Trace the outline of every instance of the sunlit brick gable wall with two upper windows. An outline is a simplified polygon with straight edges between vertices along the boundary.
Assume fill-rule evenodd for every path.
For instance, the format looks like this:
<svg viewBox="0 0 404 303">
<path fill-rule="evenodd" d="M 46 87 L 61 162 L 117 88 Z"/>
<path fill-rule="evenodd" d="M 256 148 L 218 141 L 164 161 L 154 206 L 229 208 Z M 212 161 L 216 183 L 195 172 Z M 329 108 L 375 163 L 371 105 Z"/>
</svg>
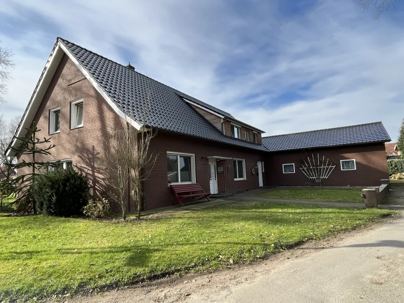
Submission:
<svg viewBox="0 0 404 303">
<path fill-rule="evenodd" d="M 79 81 L 77 81 L 79 80 Z M 70 129 L 70 102 L 83 98 L 83 127 Z M 60 133 L 48 134 L 49 110 L 61 108 Z M 120 127 L 120 118 L 96 91 L 74 63 L 64 55 L 42 103 L 35 115 L 38 137 L 51 137 L 56 144 L 51 156 L 39 156 L 44 162 L 73 159 L 73 166 L 86 174 L 94 194 L 106 196 L 100 157 L 108 131 Z M 20 157 L 19 161 L 27 159 Z M 19 172 L 24 173 L 23 170 Z"/>
</svg>

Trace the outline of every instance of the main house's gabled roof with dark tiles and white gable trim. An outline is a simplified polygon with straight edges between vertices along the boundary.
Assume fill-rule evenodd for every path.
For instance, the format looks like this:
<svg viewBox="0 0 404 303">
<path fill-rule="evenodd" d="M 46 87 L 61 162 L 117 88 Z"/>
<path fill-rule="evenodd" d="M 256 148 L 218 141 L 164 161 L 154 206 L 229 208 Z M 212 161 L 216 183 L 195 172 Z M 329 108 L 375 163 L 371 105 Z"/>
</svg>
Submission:
<svg viewBox="0 0 404 303">
<path fill-rule="evenodd" d="M 260 144 L 223 135 L 213 124 L 193 110 L 183 98 L 234 119 L 229 113 L 62 38 L 57 39 L 49 56 L 17 129 L 16 137 L 24 136 L 25 128 L 31 124 L 63 53 L 69 56 L 109 105 L 137 128 L 142 124 L 139 121 L 143 120 L 143 109 L 148 104 L 145 121 L 148 127 L 268 151 Z M 14 139 L 10 146 L 16 142 Z M 10 149 L 8 155 L 9 153 Z"/>
</svg>

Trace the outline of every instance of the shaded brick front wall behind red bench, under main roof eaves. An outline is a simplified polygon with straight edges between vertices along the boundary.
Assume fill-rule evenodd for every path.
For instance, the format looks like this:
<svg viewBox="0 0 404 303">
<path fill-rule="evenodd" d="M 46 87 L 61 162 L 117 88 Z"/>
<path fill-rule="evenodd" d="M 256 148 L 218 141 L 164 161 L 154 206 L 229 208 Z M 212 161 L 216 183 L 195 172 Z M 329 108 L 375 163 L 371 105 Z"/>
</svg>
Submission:
<svg viewBox="0 0 404 303">
<path fill-rule="evenodd" d="M 210 191 L 208 156 L 245 159 L 247 179 L 242 181 L 234 181 L 233 160 L 225 161 L 226 190 L 228 193 L 258 188 L 257 170 L 256 174 L 252 175 L 251 169 L 256 167 L 258 161 L 264 161 L 266 154 L 252 149 L 159 130 L 157 136 L 150 143 L 150 153 L 157 159 L 144 183 L 146 195 L 144 208 L 146 210 L 170 206 L 175 201 L 167 182 L 167 151 L 195 155 L 196 182 L 206 192 Z M 265 176 L 263 176 L 263 181 L 265 184 Z"/>
</svg>

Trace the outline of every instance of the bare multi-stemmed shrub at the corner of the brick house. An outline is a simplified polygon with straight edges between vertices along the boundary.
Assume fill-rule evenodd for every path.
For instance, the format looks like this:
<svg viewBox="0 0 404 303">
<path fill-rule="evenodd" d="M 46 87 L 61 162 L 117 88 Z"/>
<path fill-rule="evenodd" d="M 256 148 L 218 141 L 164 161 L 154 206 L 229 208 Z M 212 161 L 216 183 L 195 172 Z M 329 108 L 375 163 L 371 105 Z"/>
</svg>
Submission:
<svg viewBox="0 0 404 303">
<path fill-rule="evenodd" d="M 111 130 L 105 139 L 103 159 L 106 182 L 112 188 L 110 198 L 120 207 L 124 220 L 126 218 L 125 191 L 128 187 L 130 197 L 136 205 L 137 219 L 140 219 L 143 210 L 143 182 L 157 159 L 153 153 L 149 153 L 150 140 L 157 135 L 157 130 L 146 125 L 149 105 L 150 88 L 147 86 L 139 130 L 126 122 L 123 127 Z M 126 121 L 131 120 L 129 116 L 125 118 Z"/>
</svg>

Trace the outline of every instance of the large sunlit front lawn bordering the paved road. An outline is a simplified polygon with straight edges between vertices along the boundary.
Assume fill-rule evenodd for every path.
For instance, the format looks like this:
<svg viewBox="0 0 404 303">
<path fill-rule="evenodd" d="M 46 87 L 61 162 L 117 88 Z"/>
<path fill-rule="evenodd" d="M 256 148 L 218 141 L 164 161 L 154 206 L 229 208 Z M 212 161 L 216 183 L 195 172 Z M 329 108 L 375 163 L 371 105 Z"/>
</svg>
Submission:
<svg viewBox="0 0 404 303">
<path fill-rule="evenodd" d="M 251 262 L 391 213 L 260 203 L 133 223 L 0 216 L 0 301 Z"/>
</svg>

